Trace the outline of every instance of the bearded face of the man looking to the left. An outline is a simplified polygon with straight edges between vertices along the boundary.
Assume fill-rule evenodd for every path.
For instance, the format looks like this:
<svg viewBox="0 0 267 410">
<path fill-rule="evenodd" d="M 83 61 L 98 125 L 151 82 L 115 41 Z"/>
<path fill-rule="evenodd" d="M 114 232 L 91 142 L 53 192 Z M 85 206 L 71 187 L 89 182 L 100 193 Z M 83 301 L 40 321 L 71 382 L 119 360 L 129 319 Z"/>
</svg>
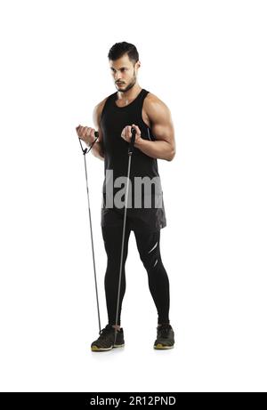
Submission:
<svg viewBox="0 0 267 410">
<path fill-rule="evenodd" d="M 117 91 L 126 92 L 134 86 L 140 61 L 134 64 L 129 60 L 128 54 L 125 54 L 117 60 L 109 60 L 109 66 Z"/>
</svg>

